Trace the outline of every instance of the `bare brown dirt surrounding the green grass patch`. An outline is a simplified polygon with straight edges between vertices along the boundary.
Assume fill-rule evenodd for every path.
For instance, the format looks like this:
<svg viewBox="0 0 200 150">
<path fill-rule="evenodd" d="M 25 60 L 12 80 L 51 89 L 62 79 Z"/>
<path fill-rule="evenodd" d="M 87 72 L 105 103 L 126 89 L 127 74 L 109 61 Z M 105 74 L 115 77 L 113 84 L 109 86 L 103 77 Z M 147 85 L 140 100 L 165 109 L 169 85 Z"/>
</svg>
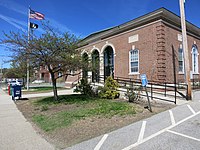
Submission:
<svg viewBox="0 0 200 150">
<path fill-rule="evenodd" d="M 131 104 L 136 107 L 137 113 L 134 115 L 127 116 L 114 116 L 111 118 L 104 117 L 90 117 L 84 120 L 73 122 L 70 127 L 56 129 L 52 132 L 42 131 L 36 124 L 32 122 L 32 116 L 34 114 L 53 114 L 58 111 L 78 109 L 76 104 L 73 105 L 58 105 L 49 107 L 47 111 L 41 111 L 41 107 L 33 105 L 35 100 L 30 99 L 27 101 L 17 101 L 18 109 L 23 113 L 25 118 L 32 123 L 35 130 L 40 133 L 47 141 L 55 145 L 58 149 L 63 149 L 68 146 L 80 143 L 93 137 L 111 132 L 123 126 L 137 122 L 139 120 L 148 118 L 156 113 L 173 108 L 173 103 L 158 103 L 152 102 L 153 113 L 149 110 L 144 109 L 147 105 L 146 102 L 140 101 L 137 104 Z"/>
</svg>

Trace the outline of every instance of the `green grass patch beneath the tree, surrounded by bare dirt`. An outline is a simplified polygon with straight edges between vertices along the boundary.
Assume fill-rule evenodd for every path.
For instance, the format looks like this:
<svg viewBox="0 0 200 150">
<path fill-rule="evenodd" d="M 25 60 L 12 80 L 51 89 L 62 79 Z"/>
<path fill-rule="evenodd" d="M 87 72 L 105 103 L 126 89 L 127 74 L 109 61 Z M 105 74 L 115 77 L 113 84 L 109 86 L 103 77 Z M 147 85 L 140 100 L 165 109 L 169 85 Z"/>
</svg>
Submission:
<svg viewBox="0 0 200 150">
<path fill-rule="evenodd" d="M 135 114 L 135 107 L 125 102 L 117 102 L 99 98 L 90 98 L 84 95 L 61 96 L 60 102 L 53 102 L 52 98 L 45 98 L 34 103 L 37 107 L 59 105 L 72 105 L 77 107 L 73 110 L 63 110 L 51 115 L 36 114 L 33 121 L 46 132 L 53 131 L 62 127 L 69 127 L 73 122 L 89 117 L 106 117 L 111 118 L 115 115 L 126 116 Z M 51 109 L 49 108 L 48 111 Z"/>
</svg>

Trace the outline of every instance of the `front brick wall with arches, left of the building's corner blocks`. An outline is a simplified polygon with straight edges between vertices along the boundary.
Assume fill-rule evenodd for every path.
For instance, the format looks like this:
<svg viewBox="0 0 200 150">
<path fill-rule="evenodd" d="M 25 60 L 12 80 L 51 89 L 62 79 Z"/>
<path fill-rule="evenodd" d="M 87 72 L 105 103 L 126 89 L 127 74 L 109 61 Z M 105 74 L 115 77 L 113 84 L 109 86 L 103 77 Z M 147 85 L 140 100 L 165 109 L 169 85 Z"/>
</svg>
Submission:
<svg viewBox="0 0 200 150">
<path fill-rule="evenodd" d="M 102 49 L 106 42 L 114 45 L 116 56 L 114 57 L 114 70 L 115 76 L 139 78 L 139 75 L 129 75 L 129 51 L 132 49 L 132 45 L 139 50 L 139 73 L 146 73 L 148 78 L 156 80 L 156 26 L 160 23 L 155 23 L 141 29 L 129 31 L 124 34 L 120 34 L 114 37 L 104 39 L 95 43 L 90 43 L 88 46 L 82 49 L 88 53 L 95 46 L 98 49 Z M 128 43 L 128 38 L 133 35 L 139 35 L 139 41 Z"/>
</svg>

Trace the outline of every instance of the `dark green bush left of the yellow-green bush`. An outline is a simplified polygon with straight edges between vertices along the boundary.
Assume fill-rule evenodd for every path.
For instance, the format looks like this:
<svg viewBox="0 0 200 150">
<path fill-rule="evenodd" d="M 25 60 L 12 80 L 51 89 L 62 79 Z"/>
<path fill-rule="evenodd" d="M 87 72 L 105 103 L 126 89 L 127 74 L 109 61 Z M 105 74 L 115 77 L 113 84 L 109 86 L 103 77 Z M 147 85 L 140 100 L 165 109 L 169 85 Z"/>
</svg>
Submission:
<svg viewBox="0 0 200 150">
<path fill-rule="evenodd" d="M 88 96 L 95 96 L 92 87 L 88 83 L 87 79 L 81 79 L 81 82 L 76 86 L 74 92 L 80 92 L 81 94 L 88 95 Z"/>
</svg>

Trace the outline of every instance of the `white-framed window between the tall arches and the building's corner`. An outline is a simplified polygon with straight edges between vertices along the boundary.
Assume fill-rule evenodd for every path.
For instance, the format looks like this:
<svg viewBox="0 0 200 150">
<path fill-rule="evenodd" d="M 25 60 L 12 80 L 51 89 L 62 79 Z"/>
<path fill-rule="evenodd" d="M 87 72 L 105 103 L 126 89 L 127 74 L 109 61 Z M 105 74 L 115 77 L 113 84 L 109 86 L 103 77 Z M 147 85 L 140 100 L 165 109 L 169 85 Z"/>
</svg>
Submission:
<svg viewBox="0 0 200 150">
<path fill-rule="evenodd" d="M 131 50 L 129 52 L 129 72 L 131 74 L 139 73 L 139 51 Z"/>
</svg>

